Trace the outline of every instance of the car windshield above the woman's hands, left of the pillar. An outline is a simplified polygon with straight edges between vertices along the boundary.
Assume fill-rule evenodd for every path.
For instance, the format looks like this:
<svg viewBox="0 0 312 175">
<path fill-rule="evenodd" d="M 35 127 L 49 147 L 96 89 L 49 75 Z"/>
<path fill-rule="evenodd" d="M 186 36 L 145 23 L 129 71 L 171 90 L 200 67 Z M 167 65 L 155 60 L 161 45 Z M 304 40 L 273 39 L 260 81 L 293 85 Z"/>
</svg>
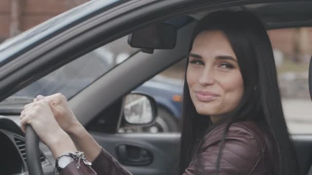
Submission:
<svg viewBox="0 0 312 175">
<path fill-rule="evenodd" d="M 128 45 L 127 36 L 122 37 L 64 65 L 1 103 L 7 103 L 8 100 L 14 103 L 14 100 L 33 99 L 39 94 L 47 96 L 54 93 L 62 93 L 70 99 L 138 51 Z"/>
</svg>

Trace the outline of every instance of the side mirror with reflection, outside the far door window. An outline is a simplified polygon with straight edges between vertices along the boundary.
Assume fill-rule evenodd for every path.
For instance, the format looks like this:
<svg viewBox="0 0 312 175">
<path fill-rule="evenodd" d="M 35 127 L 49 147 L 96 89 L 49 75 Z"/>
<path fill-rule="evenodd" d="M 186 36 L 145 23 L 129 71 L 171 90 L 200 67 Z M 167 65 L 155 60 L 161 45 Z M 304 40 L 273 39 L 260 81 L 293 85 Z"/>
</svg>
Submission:
<svg viewBox="0 0 312 175">
<path fill-rule="evenodd" d="M 131 93 L 125 98 L 123 107 L 125 124 L 146 126 L 155 121 L 157 104 L 152 97 L 141 93 Z"/>
</svg>

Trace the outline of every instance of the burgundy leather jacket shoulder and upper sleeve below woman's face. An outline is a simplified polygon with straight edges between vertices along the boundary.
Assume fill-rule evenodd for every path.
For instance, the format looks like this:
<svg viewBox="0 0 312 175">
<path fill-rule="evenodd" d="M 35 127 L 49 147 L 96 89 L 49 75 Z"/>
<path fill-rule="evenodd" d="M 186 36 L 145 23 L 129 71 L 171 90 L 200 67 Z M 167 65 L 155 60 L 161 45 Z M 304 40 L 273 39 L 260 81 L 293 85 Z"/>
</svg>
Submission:
<svg viewBox="0 0 312 175">
<path fill-rule="evenodd" d="M 247 124 L 247 125 L 246 125 Z M 262 134 L 250 123 L 232 124 L 225 138 L 219 175 L 264 174 L 263 155 L 265 144 Z M 253 125 L 251 123 L 251 125 Z M 254 126 L 257 127 L 257 126 Z M 191 161 L 184 175 L 216 174 L 218 152 L 224 128 L 210 133 L 202 146 L 201 153 Z"/>
</svg>

